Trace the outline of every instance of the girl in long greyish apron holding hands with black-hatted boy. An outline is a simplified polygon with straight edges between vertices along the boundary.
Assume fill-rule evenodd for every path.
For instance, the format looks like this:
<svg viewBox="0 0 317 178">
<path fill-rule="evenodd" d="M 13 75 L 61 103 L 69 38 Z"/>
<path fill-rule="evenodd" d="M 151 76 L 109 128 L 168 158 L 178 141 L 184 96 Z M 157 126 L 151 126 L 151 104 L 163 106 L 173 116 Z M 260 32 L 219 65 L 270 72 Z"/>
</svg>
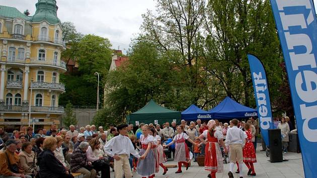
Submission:
<svg viewBox="0 0 317 178">
<path fill-rule="evenodd" d="M 148 125 L 142 127 L 143 135 L 140 136 L 140 142 L 142 149 L 139 152 L 140 160 L 137 164 L 136 172 L 142 176 L 142 178 L 153 178 L 155 173 L 155 157 L 153 150 L 151 149 L 154 144 L 154 137 L 149 135 Z"/>
</svg>

